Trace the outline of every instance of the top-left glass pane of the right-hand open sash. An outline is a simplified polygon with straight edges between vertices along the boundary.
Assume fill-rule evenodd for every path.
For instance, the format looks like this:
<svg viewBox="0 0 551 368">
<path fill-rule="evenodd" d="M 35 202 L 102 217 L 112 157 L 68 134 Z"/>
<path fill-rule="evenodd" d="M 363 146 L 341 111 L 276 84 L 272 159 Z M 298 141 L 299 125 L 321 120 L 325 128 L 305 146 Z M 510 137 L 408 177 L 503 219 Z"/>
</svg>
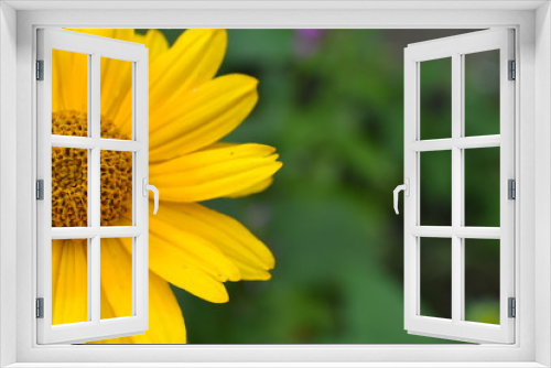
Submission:
<svg viewBox="0 0 551 368">
<path fill-rule="evenodd" d="M 452 58 L 420 63 L 421 139 L 452 137 Z"/>
</svg>

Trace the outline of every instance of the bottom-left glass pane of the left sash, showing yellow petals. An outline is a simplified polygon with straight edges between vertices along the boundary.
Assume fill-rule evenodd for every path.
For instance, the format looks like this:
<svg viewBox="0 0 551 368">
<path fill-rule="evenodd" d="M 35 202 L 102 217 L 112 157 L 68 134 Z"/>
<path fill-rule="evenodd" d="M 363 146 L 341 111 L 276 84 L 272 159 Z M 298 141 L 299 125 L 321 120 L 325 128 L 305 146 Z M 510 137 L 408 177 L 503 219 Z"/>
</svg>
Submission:
<svg viewBox="0 0 551 368">
<path fill-rule="evenodd" d="M 88 321 L 88 240 L 52 240 L 52 324 Z"/>
</svg>

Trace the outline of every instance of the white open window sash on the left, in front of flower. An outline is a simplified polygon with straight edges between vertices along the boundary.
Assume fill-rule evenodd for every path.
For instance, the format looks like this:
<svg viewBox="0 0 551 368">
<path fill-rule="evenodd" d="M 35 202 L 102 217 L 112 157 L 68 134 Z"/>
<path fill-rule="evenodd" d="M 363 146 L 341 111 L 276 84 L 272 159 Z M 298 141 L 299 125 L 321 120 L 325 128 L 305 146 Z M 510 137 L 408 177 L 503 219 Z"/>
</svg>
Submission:
<svg viewBox="0 0 551 368">
<path fill-rule="evenodd" d="M 143 334 L 149 320 L 149 52 L 138 43 L 89 34 L 40 29 L 37 59 L 43 61 L 43 80 L 36 83 L 37 106 L 37 178 L 43 180 L 43 201 L 37 213 L 37 282 L 36 295 L 43 300 L 43 316 L 37 318 L 39 344 L 82 343 L 102 338 Z M 88 84 L 88 137 L 52 134 L 52 69 L 53 50 L 86 55 Z M 132 139 L 117 140 L 100 137 L 100 59 L 125 61 L 131 64 Z M 86 149 L 88 158 L 88 224 L 84 227 L 52 227 L 52 148 Z M 132 153 L 132 225 L 100 226 L 100 158 L 107 150 Z M 101 320 L 100 252 L 101 239 L 132 239 L 132 315 Z M 87 241 L 87 321 L 53 325 L 52 240 L 86 239 Z"/>
</svg>

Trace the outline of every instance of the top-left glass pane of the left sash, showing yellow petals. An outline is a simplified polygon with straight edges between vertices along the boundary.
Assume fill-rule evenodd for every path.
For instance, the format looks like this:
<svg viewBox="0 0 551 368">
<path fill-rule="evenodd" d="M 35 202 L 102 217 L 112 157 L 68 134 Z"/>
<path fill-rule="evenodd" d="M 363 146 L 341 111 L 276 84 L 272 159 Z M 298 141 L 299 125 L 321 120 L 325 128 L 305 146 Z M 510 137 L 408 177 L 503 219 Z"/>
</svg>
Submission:
<svg viewBox="0 0 551 368">
<path fill-rule="evenodd" d="M 88 137 L 88 55 L 52 50 L 52 134 Z"/>
</svg>

